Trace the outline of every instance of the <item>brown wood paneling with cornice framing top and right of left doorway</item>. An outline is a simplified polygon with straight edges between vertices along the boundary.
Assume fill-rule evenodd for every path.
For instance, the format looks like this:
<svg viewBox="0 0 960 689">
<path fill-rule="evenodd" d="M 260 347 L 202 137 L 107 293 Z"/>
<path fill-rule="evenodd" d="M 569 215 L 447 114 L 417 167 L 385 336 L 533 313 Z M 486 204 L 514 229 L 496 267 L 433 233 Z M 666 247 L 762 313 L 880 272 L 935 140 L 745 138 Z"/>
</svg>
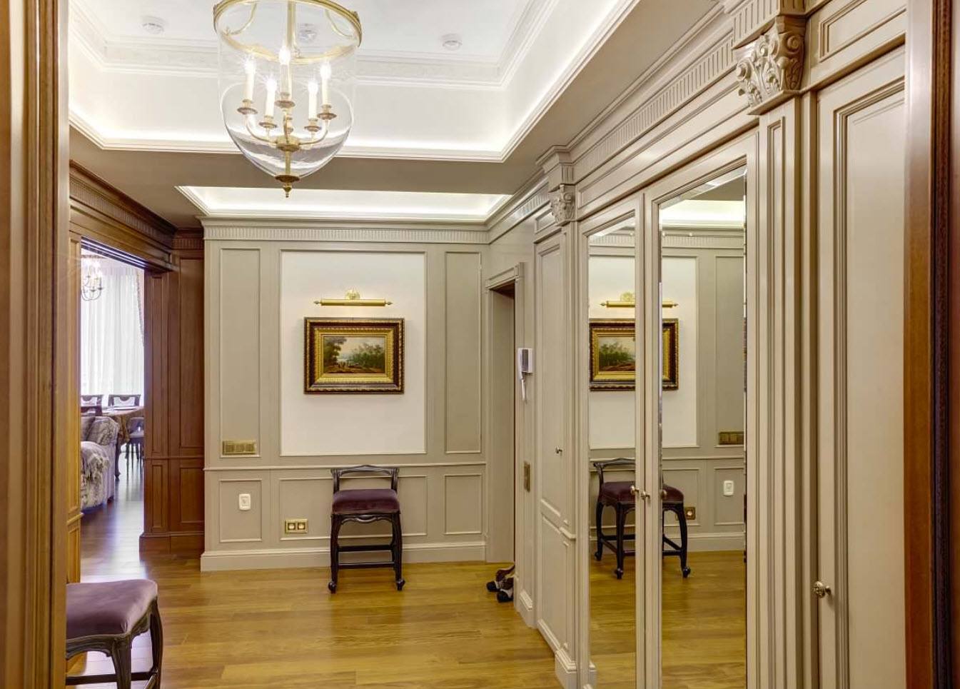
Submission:
<svg viewBox="0 0 960 689">
<path fill-rule="evenodd" d="M 70 169 L 71 234 L 146 270 L 146 447 L 140 547 L 204 544 L 204 240 L 83 167 Z"/>
</svg>

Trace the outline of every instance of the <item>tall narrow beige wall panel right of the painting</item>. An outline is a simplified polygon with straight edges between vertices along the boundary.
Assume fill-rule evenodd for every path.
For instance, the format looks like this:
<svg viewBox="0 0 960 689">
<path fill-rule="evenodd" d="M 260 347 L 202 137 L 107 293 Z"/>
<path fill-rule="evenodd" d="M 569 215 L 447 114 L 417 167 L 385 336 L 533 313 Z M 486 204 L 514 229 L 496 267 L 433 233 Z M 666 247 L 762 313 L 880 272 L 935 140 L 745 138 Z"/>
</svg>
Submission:
<svg viewBox="0 0 960 689">
<path fill-rule="evenodd" d="M 447 453 L 480 452 L 480 254 L 445 256 Z"/>
</svg>

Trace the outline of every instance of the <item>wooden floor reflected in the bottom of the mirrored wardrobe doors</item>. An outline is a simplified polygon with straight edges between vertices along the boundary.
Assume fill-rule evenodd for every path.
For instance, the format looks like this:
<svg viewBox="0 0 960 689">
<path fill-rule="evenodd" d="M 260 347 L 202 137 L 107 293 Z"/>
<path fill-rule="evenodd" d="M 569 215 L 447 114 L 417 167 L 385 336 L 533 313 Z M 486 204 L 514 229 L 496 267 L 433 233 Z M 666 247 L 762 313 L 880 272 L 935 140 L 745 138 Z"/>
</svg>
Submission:
<svg viewBox="0 0 960 689">
<path fill-rule="evenodd" d="M 590 657 L 598 689 L 635 689 L 634 558 L 622 579 L 614 558 L 591 558 Z M 691 553 L 689 578 L 677 558 L 663 560 L 663 689 L 746 686 L 746 570 L 740 552 Z"/>
</svg>

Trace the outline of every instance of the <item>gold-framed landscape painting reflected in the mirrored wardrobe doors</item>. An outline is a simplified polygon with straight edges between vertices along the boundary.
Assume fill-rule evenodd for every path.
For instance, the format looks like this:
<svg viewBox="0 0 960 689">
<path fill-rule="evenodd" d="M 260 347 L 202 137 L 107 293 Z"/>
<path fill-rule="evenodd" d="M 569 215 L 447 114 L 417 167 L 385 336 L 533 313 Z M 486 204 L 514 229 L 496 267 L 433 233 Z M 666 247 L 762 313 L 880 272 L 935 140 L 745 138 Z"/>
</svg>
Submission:
<svg viewBox="0 0 960 689">
<path fill-rule="evenodd" d="M 664 390 L 680 386 L 680 324 L 663 319 Z M 633 390 L 636 386 L 636 330 L 633 320 L 590 321 L 590 389 Z"/>
</svg>

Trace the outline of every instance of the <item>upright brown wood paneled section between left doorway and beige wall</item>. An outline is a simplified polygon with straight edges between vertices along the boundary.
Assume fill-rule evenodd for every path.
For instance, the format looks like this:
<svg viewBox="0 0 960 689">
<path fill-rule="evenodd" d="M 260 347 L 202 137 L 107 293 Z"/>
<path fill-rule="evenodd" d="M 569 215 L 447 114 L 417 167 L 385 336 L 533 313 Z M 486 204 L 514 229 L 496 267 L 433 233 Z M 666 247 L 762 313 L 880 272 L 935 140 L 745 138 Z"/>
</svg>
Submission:
<svg viewBox="0 0 960 689">
<path fill-rule="evenodd" d="M 144 286 L 147 351 L 145 514 L 141 547 L 204 547 L 204 240 L 174 236 L 173 270 Z"/>
</svg>

